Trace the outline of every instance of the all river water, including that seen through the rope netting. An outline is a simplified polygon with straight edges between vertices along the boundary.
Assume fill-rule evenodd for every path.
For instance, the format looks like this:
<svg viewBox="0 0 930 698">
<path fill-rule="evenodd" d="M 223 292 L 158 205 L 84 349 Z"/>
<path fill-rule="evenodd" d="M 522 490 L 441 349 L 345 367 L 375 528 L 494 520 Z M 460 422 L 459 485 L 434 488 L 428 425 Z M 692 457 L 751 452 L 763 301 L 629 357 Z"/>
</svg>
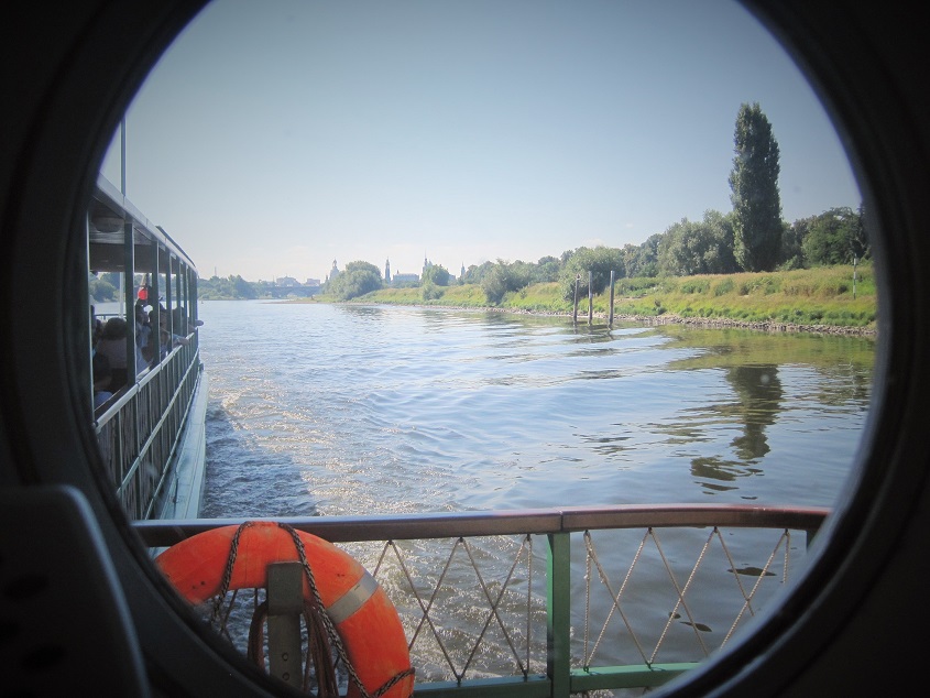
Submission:
<svg viewBox="0 0 930 698">
<path fill-rule="evenodd" d="M 217 517 L 680 502 L 830 506 L 853 468 L 875 358 L 874 340 L 863 337 L 630 323 L 610 329 L 484 310 L 205 302 L 200 317 L 210 386 L 203 515 Z M 702 658 L 725 642 L 734 619 L 748 617 L 742 597 L 731 595 L 734 606 L 718 593 L 721 582 L 698 575 L 686 613 L 659 556 L 636 554 L 639 538 L 595 536 L 600 558 L 615 570 L 614 590 L 630 559 L 639 561 L 628 575 L 626 625 L 609 596 L 590 603 L 592 637 L 598 623 L 608 626 L 593 664 Z M 705 538 L 705 531 L 663 533 L 661 555 L 681 565 L 677 584 Z M 451 544 L 402 543 L 404 565 L 435 582 Z M 752 571 L 770 542 L 733 536 L 726 544 L 733 559 L 718 553 L 708 563 L 724 584 L 727 570 L 742 567 L 746 589 L 763 579 L 778 593 L 780 571 Z M 475 541 L 484 579 L 500 588 L 519 545 Z M 537 571 L 522 561 L 517 577 L 541 635 L 521 632 L 527 623 L 518 601 L 500 612 L 516 645 L 529 635 L 533 672 L 546 662 L 540 547 L 526 557 Z M 791 547 L 802 556 L 802 541 Z M 598 577 L 586 574 L 583 548 L 580 538 L 572 543 L 576 657 L 584 652 L 584 585 Z M 378 545 L 350 552 L 369 569 L 380 565 Z M 375 572 L 414 637 L 422 613 L 398 566 Z M 418 680 L 449 679 L 469 662 L 475 629 L 488 619 L 479 581 L 468 564 L 450 567 L 431 610 L 446 646 L 425 630 L 416 635 Z M 430 587 L 419 592 L 425 599 Z M 506 639 L 493 631 L 469 677 L 514 673 Z"/>
</svg>

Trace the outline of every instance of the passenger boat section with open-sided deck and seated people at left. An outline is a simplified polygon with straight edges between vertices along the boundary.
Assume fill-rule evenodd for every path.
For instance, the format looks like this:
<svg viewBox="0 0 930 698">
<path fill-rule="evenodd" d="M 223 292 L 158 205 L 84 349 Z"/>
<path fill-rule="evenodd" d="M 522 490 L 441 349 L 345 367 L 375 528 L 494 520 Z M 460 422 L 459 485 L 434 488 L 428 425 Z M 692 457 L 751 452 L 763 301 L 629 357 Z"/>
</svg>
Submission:
<svg viewBox="0 0 930 698">
<path fill-rule="evenodd" d="M 86 324 L 90 335 L 84 346 L 90 352 L 91 374 L 94 356 L 103 355 L 103 342 L 98 346 L 96 337 L 105 323 L 124 328 L 124 339 L 113 340 L 113 364 L 122 370 L 113 371 L 107 390 L 111 396 L 94 406 L 103 469 L 130 517 L 196 517 L 204 488 L 207 407 L 197 268 L 103 177 L 88 208 L 86 249 L 88 274 L 117 272 L 123 290 L 123 312 L 100 314 L 90 305 Z M 161 327 L 165 329 L 155 329 Z M 177 339 L 164 351 L 154 350 L 162 343 L 160 335 Z M 88 395 L 94 394 L 90 386 Z"/>
</svg>

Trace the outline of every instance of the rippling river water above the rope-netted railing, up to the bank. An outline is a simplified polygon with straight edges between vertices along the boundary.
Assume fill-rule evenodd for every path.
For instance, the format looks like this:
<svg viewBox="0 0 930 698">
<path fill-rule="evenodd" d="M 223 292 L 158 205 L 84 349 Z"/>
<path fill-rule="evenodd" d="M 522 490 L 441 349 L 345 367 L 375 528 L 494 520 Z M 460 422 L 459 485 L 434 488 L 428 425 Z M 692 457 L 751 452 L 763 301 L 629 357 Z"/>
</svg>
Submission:
<svg viewBox="0 0 930 698">
<path fill-rule="evenodd" d="M 205 515 L 830 505 L 874 342 L 207 302 Z"/>
</svg>

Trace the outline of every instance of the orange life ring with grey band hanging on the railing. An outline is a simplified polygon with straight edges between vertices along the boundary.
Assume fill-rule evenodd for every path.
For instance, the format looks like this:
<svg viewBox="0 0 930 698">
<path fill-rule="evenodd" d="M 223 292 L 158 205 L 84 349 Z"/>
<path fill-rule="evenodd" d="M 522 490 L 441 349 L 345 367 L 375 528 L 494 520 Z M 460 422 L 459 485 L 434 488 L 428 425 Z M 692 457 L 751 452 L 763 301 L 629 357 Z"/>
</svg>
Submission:
<svg viewBox="0 0 930 698">
<path fill-rule="evenodd" d="M 407 639 L 387 595 L 355 559 L 331 543 L 275 522 L 248 522 L 194 535 L 155 558 L 162 572 L 192 603 L 220 593 L 237 541 L 227 591 L 267 587 L 271 563 L 299 560 L 299 537 L 319 598 L 346 648 L 364 692 L 408 698 L 414 675 Z M 304 598 L 311 595 L 304 577 Z M 400 680 L 397 677 L 401 677 Z M 389 681 L 395 683 L 380 692 Z M 349 696 L 360 696 L 350 681 Z"/>
</svg>

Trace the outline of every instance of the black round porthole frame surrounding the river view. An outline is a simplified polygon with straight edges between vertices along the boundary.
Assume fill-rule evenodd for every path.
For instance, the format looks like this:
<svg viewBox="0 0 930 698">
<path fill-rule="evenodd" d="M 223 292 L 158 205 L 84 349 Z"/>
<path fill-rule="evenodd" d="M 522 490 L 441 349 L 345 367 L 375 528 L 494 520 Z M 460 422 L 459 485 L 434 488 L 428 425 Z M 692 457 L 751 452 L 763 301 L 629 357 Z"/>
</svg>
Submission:
<svg viewBox="0 0 930 698">
<path fill-rule="evenodd" d="M 80 399 L 87 367 L 75 359 L 83 318 L 66 303 L 83 273 L 74 246 L 80 243 L 76 231 L 96 176 L 94 163 L 102 160 L 108 134 L 145 75 L 204 4 L 134 0 L 2 10 L 7 45 L 19 53 L 15 65 L 4 61 L 3 68 L 4 99 L 18 108 L 2 117 L 7 139 L 0 151 L 0 239 L 8 252 L 0 258 L 6 348 L 0 484 L 65 483 L 84 493 L 127 591 L 156 690 L 251 696 L 267 692 L 267 684 L 182 618 L 112 498 L 101 493 L 89 410 Z M 909 646 L 896 633 L 930 620 L 930 610 L 918 603 L 930 567 L 924 555 L 930 368 L 923 361 L 930 338 L 930 208 L 924 204 L 930 119 L 915 69 L 927 48 L 915 19 L 887 3 L 745 4 L 784 43 L 833 114 L 879 237 L 873 414 L 858 476 L 801 582 L 758 630 L 661 692 L 891 690 L 896 676 L 875 676 L 871 667 L 919 666 L 926 643 Z M 46 21 L 48 13 L 55 22 Z M 56 283 L 36 287 L 30 283 L 36 270 Z M 24 337 L 29 351 L 14 351 Z M 875 642 L 876 636 L 887 640 Z"/>
</svg>

